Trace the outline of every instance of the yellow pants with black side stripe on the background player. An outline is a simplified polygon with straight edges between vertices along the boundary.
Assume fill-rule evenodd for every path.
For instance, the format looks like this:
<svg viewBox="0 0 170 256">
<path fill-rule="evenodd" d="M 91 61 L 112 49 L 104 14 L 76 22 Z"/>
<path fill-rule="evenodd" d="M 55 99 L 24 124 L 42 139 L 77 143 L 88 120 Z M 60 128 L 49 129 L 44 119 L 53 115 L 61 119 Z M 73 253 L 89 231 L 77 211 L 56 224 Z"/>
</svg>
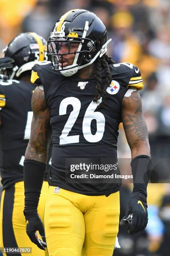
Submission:
<svg viewBox="0 0 170 256">
<path fill-rule="evenodd" d="M 43 182 L 38 213 L 44 222 L 44 207 L 48 183 Z M 39 249 L 26 233 L 24 210 L 24 182 L 17 182 L 4 189 L 0 204 L 0 247 L 31 247 L 32 253 L 18 253 L 22 256 L 45 256 L 47 251 Z M 3 254 L 8 255 L 8 254 Z M 13 255 L 13 254 L 9 254 Z"/>
</svg>

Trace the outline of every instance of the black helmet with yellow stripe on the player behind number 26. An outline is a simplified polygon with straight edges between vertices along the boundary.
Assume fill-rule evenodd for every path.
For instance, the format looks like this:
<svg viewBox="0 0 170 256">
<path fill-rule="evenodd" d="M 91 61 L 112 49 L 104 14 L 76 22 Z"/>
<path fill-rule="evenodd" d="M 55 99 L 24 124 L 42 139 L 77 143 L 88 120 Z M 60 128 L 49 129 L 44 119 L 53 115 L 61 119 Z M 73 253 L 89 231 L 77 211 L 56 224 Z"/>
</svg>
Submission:
<svg viewBox="0 0 170 256">
<path fill-rule="evenodd" d="M 47 41 L 36 33 L 21 33 L 4 49 L 4 56 L 14 59 L 13 68 L 6 69 L 9 79 L 31 70 L 37 61 L 47 60 Z"/>
</svg>

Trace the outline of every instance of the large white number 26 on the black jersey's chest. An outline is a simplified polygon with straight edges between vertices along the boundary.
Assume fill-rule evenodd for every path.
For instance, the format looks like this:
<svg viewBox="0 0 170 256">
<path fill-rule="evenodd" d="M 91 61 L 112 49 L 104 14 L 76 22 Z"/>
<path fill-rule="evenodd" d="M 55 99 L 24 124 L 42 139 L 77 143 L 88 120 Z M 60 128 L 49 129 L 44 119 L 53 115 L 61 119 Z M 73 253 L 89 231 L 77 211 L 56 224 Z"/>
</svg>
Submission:
<svg viewBox="0 0 170 256">
<path fill-rule="evenodd" d="M 97 100 L 97 103 L 92 101 L 85 112 L 85 116 L 82 122 L 82 132 L 86 141 L 98 142 L 102 139 L 103 133 L 105 131 L 105 117 L 100 112 L 94 112 L 97 106 L 101 103 L 101 101 L 102 101 L 102 98 L 100 98 L 100 100 Z M 69 143 L 79 143 L 80 135 L 68 136 L 68 134 L 71 131 L 80 113 L 81 102 L 79 99 L 75 97 L 65 98 L 60 103 L 59 115 L 66 114 L 68 105 L 72 105 L 73 110 L 70 113 L 70 116 L 60 135 L 60 145 L 69 144 Z M 92 120 L 96 120 L 97 131 L 95 134 L 91 133 L 90 125 Z"/>
</svg>

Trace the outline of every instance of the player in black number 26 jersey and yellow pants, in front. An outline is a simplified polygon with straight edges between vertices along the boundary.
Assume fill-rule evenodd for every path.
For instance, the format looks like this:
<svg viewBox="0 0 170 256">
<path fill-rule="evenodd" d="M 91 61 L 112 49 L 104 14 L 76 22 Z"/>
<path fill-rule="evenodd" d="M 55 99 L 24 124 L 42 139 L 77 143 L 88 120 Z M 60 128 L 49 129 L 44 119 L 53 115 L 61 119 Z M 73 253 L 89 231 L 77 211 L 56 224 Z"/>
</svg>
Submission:
<svg viewBox="0 0 170 256">
<path fill-rule="evenodd" d="M 133 194 L 121 224 L 129 223 L 128 232 L 133 234 L 148 222 L 148 178 L 139 183 L 137 175 L 139 170 L 143 177 L 150 163 L 138 93 L 142 78 L 133 64 L 115 64 L 105 54 L 109 42 L 105 25 L 94 13 L 70 10 L 57 20 L 50 34 L 47 51 L 51 63 L 33 67 L 31 81 L 39 86 L 32 98 L 31 135 L 24 162 L 25 218 L 28 236 L 39 246 L 35 232 L 42 224 L 37 205 L 51 125 L 52 168 L 45 203 L 50 256 L 112 255 L 119 226 L 120 183 L 70 181 L 68 166 L 77 168 L 75 164 L 80 166 L 83 159 L 82 166 L 117 159 L 120 122 L 131 148 L 134 177 Z"/>
</svg>

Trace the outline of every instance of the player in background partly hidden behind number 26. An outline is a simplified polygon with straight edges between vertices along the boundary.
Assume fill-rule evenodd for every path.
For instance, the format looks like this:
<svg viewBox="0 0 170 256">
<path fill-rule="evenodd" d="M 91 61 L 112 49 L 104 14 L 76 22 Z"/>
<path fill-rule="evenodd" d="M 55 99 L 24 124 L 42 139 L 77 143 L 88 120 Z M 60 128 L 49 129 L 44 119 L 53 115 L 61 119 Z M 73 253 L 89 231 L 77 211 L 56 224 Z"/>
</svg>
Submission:
<svg viewBox="0 0 170 256">
<path fill-rule="evenodd" d="M 36 33 L 16 36 L 5 49 L 5 57 L 0 59 L 4 62 L 1 67 L 6 68 L 5 73 L 9 77 L 9 80 L 0 80 L 0 172 L 3 186 L 0 247 L 31 247 L 32 256 L 47 253 L 35 246 L 25 232 L 23 161 L 33 115 L 31 98 L 35 85 L 30 83 L 31 69 L 35 63 L 45 59 L 47 42 Z M 42 221 L 47 187 L 45 181 L 39 204 Z M 21 251 L 18 255 L 30 253 L 23 254 Z"/>
</svg>

